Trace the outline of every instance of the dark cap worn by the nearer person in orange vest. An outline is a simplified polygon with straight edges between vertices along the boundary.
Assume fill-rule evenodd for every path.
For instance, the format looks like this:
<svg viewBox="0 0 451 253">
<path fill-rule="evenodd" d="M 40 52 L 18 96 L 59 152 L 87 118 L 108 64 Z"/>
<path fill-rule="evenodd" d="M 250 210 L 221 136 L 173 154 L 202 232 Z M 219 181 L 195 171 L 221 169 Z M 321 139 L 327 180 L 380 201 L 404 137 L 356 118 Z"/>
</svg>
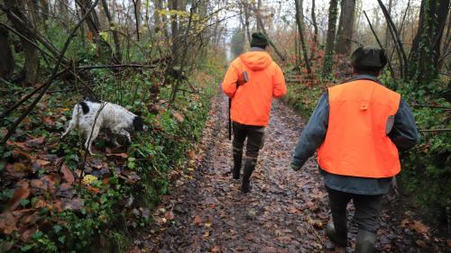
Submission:
<svg viewBox="0 0 451 253">
<path fill-rule="evenodd" d="M 387 57 L 381 49 L 360 47 L 354 50 L 351 63 L 361 70 L 380 70 L 387 64 Z"/>
</svg>

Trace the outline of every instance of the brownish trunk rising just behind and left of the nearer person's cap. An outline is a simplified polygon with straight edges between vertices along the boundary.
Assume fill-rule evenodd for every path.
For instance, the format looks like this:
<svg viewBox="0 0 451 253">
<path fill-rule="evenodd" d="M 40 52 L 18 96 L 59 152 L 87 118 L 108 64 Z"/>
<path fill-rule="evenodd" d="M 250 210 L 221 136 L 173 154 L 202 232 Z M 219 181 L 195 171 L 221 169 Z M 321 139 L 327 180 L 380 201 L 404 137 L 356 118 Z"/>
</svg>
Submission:
<svg viewBox="0 0 451 253">
<path fill-rule="evenodd" d="M 336 53 L 348 55 L 354 34 L 355 0 L 342 0 L 340 22 L 336 32 Z"/>
</svg>

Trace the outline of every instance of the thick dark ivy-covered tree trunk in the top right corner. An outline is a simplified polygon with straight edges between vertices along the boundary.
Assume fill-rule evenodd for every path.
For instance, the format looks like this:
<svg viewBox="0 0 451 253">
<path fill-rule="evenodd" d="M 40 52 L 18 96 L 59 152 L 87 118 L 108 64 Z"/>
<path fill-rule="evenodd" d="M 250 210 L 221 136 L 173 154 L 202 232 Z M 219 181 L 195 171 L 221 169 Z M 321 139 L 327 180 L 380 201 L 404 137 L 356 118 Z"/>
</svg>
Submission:
<svg viewBox="0 0 451 253">
<path fill-rule="evenodd" d="M 438 76 L 440 42 L 450 0 L 422 0 L 419 29 L 410 50 L 410 78 L 426 84 Z"/>
</svg>

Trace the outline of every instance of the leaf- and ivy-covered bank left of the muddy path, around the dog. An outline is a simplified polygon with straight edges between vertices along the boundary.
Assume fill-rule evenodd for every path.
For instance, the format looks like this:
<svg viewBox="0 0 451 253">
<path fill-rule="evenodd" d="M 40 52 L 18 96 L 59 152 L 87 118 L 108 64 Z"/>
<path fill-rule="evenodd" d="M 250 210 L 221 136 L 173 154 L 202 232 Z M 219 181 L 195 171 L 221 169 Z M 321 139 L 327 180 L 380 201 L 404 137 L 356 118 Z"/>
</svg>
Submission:
<svg viewBox="0 0 451 253">
<path fill-rule="evenodd" d="M 123 251 L 128 235 L 151 221 L 152 208 L 170 192 L 170 172 L 199 140 L 218 82 L 216 66 L 203 69 L 194 71 L 173 104 L 171 86 L 161 87 L 152 103 L 142 96 L 158 83 L 144 71 L 124 83 L 98 73 L 105 78 L 105 86 L 96 87 L 103 100 L 140 111 L 150 130 L 135 133 L 128 149 L 112 148 L 101 136 L 93 157 L 86 156 L 78 132 L 59 140 L 82 95 L 44 96 L 40 112 L 27 117 L 1 150 L 0 251 Z M 6 88 L 1 93 L 10 97 L 2 102 L 4 111 L 15 94 Z"/>
</svg>

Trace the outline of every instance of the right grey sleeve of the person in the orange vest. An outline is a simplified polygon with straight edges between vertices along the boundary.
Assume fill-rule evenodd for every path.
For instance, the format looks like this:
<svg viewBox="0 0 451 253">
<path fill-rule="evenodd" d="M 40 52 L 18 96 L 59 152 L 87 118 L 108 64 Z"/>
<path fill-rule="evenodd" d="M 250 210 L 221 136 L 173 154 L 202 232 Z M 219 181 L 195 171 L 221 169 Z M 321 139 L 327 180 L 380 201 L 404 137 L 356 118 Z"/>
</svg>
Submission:
<svg viewBox="0 0 451 253">
<path fill-rule="evenodd" d="M 393 128 L 389 137 L 400 150 L 411 149 L 419 141 L 415 119 L 409 105 L 403 99 L 401 99 L 400 108 L 394 116 Z"/>
</svg>

